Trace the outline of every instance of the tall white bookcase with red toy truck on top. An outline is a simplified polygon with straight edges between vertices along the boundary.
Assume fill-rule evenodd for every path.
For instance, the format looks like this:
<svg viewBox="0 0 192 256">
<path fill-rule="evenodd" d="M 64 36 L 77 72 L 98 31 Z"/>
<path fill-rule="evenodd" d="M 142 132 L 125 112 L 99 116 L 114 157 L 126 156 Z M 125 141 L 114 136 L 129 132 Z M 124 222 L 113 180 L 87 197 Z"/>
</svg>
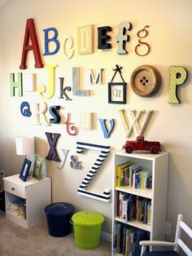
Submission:
<svg viewBox="0 0 192 256">
<path fill-rule="evenodd" d="M 115 225 L 116 223 L 126 223 L 132 227 L 141 228 L 150 232 L 151 240 L 163 240 L 167 214 L 167 191 L 168 191 L 168 152 L 159 152 L 159 154 L 150 153 L 126 153 L 124 150 L 114 152 L 114 174 L 113 174 L 113 213 L 112 213 L 112 255 L 116 254 L 115 243 Z M 152 170 L 152 188 L 141 189 L 129 186 L 116 187 L 116 166 L 125 162 L 133 161 L 143 167 L 143 169 Z M 137 221 L 124 222 L 117 217 L 118 210 L 118 192 L 127 192 L 136 196 L 142 196 L 151 199 L 151 225 L 139 223 Z"/>
</svg>

